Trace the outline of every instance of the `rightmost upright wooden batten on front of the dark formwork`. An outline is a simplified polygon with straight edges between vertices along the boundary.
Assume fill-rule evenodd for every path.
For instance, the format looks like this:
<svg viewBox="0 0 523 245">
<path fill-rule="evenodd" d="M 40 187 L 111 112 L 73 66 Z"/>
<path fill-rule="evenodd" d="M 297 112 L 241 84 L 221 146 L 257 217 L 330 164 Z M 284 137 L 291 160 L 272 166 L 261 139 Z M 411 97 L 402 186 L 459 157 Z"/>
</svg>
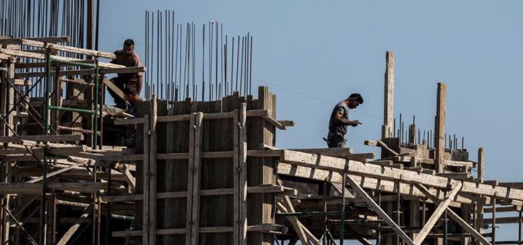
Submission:
<svg viewBox="0 0 523 245">
<path fill-rule="evenodd" d="M 234 110 L 234 237 L 235 245 L 247 244 L 247 134 L 246 103 Z"/>
</svg>

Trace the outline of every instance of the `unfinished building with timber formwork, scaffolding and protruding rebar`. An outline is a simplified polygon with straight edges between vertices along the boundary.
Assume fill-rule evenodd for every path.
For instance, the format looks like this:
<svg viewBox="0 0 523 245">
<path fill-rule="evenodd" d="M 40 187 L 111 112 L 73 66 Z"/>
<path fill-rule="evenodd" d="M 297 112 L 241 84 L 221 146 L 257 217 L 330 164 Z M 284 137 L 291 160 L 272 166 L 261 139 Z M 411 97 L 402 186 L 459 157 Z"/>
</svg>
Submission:
<svg viewBox="0 0 523 245">
<path fill-rule="evenodd" d="M 294 122 L 277 118 L 268 87 L 252 92 L 250 34 L 233 41 L 218 22 L 203 25 L 200 81 L 196 28 L 184 26 L 183 42 L 172 12 L 146 12 L 145 66 L 125 67 L 96 50 L 92 0 L 42 2 L 49 31 L 0 27 L 2 244 L 522 243 L 523 182 L 484 180 L 483 148 L 446 133 L 445 84 L 434 131 L 396 123 L 392 52 L 381 138 L 365 142 L 379 156 L 281 149 L 276 131 Z M 29 9 L 20 13 L 34 22 L 37 1 L 19 3 L 2 8 Z M 62 7 L 87 23 L 59 33 Z M 107 106 L 106 89 L 123 92 L 106 75 L 137 72 L 146 100 L 136 113 Z M 517 226 L 514 239 L 496 240 L 497 224 Z"/>
</svg>

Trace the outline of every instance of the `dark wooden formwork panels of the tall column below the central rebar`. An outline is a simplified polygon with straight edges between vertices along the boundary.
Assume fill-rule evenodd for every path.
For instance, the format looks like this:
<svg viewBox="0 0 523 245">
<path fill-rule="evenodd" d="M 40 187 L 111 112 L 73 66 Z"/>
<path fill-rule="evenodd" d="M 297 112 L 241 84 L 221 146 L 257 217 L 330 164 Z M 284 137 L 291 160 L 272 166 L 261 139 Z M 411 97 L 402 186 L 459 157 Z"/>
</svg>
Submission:
<svg viewBox="0 0 523 245">
<path fill-rule="evenodd" d="M 270 110 L 276 117 L 276 96 L 267 87 L 259 87 L 258 99 L 253 96 L 240 97 L 237 94 L 224 97 L 221 101 L 185 101 L 175 102 L 167 109 L 166 101 L 157 102 L 158 116 L 183 115 L 192 112 L 214 113 L 230 112 L 239 109 L 241 103 L 246 103 L 247 110 Z M 139 105 L 139 117 L 150 114 L 150 103 Z M 232 151 L 233 119 L 203 120 L 201 124 L 201 151 Z M 188 153 L 190 121 L 158 123 L 156 128 L 157 153 Z M 143 125 L 138 128 L 136 151 L 143 153 Z M 246 121 L 247 149 L 260 149 L 260 144 L 274 146 L 275 126 L 263 118 L 247 118 Z M 187 159 L 157 160 L 156 189 L 157 193 L 187 191 L 188 168 Z M 275 160 L 273 158 L 247 158 L 247 186 L 275 184 Z M 231 189 L 233 184 L 233 158 L 202 158 L 201 159 L 201 190 Z M 137 193 L 143 193 L 143 166 L 137 165 Z M 272 206 L 274 194 L 247 195 L 248 225 L 274 224 Z M 156 229 L 186 228 L 187 197 L 151 200 L 150 205 L 156 206 Z M 199 227 L 233 227 L 234 208 L 233 195 L 200 196 Z M 143 202 L 137 201 L 135 206 L 134 227 L 142 228 Z M 186 230 L 188 232 L 188 229 Z M 156 244 L 186 244 L 186 235 L 156 236 Z M 142 238 L 135 239 L 136 244 L 142 244 Z M 199 244 L 233 244 L 232 232 L 199 233 Z M 247 244 L 272 244 L 272 236 L 261 232 L 247 232 Z"/>
</svg>

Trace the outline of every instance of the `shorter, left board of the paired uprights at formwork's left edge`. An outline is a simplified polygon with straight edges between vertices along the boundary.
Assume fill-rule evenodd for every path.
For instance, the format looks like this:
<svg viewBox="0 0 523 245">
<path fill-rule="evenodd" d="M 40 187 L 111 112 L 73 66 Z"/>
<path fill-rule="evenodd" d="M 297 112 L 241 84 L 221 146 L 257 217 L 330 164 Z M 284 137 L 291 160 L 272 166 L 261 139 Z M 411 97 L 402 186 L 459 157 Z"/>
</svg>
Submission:
<svg viewBox="0 0 523 245">
<path fill-rule="evenodd" d="M 151 151 L 149 115 L 144 115 L 143 123 L 143 220 L 142 220 L 142 245 L 149 245 L 149 160 Z"/>
</svg>

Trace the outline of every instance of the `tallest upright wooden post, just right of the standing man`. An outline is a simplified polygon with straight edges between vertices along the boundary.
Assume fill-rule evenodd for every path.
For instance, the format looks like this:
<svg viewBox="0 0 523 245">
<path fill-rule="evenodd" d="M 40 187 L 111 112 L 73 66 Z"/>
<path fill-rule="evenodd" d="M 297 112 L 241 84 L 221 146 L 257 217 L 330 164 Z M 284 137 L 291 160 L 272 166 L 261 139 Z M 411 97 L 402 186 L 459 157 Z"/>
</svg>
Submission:
<svg viewBox="0 0 523 245">
<path fill-rule="evenodd" d="M 392 137 L 394 124 L 394 53 L 385 53 L 385 89 L 383 97 L 383 126 L 381 138 Z"/>
</svg>

